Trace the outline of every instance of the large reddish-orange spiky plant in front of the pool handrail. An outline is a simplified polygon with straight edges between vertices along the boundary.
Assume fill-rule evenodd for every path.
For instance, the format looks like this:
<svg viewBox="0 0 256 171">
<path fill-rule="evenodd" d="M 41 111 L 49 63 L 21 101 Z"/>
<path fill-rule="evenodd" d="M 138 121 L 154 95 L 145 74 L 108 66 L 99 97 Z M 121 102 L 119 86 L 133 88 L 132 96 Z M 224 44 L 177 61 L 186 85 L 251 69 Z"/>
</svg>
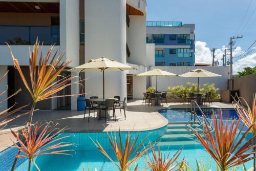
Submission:
<svg viewBox="0 0 256 171">
<path fill-rule="evenodd" d="M 243 125 L 242 129 L 238 132 L 241 119 L 239 119 L 236 124 L 232 121 L 229 125 L 227 122 L 224 125 L 222 112 L 220 120 L 216 119 L 215 116 L 212 118 L 214 132 L 209 130 L 207 122 L 205 122 L 203 127 L 203 135 L 199 134 L 194 129 L 191 130 L 193 130 L 209 155 L 217 162 L 221 171 L 228 170 L 231 167 L 243 164 L 255 158 L 252 157 L 252 155 L 256 153 L 253 149 L 255 145 L 251 145 L 251 143 L 256 136 L 254 135 L 249 140 L 245 138 L 251 127 L 249 127 L 244 134 L 241 134 L 244 127 Z"/>
</svg>

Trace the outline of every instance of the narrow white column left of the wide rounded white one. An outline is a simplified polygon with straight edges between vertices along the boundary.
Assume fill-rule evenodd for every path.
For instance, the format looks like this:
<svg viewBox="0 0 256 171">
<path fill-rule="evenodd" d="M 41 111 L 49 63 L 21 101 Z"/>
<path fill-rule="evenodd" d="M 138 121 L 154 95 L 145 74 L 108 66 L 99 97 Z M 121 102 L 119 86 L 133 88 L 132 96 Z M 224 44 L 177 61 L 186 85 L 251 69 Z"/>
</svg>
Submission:
<svg viewBox="0 0 256 171">
<path fill-rule="evenodd" d="M 71 60 L 69 67 L 79 65 L 79 0 L 60 0 L 60 51 L 66 51 L 66 61 Z M 76 94 L 77 84 L 71 87 Z M 77 97 L 71 98 L 71 110 L 77 109 Z"/>
</svg>

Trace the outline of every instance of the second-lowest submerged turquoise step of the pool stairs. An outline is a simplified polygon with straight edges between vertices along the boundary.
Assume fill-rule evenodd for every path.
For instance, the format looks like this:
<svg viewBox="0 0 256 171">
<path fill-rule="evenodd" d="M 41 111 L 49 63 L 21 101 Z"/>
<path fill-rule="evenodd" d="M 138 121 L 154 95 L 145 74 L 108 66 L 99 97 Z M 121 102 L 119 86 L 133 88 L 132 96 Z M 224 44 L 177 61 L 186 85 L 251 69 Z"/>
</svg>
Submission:
<svg viewBox="0 0 256 171">
<path fill-rule="evenodd" d="M 165 134 L 160 138 L 160 141 L 184 141 L 196 138 L 194 134 Z"/>
</svg>

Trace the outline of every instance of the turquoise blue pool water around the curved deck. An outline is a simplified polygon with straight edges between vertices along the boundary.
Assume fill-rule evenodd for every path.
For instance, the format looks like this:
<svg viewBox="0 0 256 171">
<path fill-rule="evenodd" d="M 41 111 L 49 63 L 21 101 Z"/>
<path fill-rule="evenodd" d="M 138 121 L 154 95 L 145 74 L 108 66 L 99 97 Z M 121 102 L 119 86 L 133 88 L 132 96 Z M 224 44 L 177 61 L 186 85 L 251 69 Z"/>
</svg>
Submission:
<svg viewBox="0 0 256 171">
<path fill-rule="evenodd" d="M 216 110 L 217 111 L 217 110 Z M 217 111 L 218 112 L 218 111 Z M 176 109 L 176 110 L 160 110 L 164 117 L 166 117 L 169 121 L 188 121 L 190 119 L 190 114 L 184 109 Z M 232 118 L 236 114 L 234 111 L 225 110 L 223 111 L 223 115 L 228 118 Z M 143 132 L 134 132 L 133 136 L 139 135 L 139 142 L 148 136 L 146 143 L 153 143 L 159 141 L 160 137 L 165 134 L 167 127 L 164 126 L 161 129 L 152 130 L 152 131 L 143 131 Z M 114 133 L 113 133 L 114 134 Z M 90 138 L 94 141 L 98 140 L 100 144 L 104 147 L 106 152 L 108 152 L 111 157 L 114 157 L 114 153 L 112 152 L 112 148 L 110 146 L 109 140 L 107 138 L 106 133 L 65 133 L 61 136 L 66 135 L 74 135 L 63 141 L 68 141 L 70 143 L 75 143 L 76 146 L 70 147 L 75 149 L 75 153 L 71 153 L 72 156 L 66 155 L 45 155 L 45 156 L 38 156 L 35 159 L 35 162 L 39 166 L 39 168 L 44 170 L 94 170 L 95 167 L 97 170 L 117 170 L 116 166 L 104 155 L 102 155 L 98 149 L 95 147 L 93 142 Z M 127 132 L 121 133 L 121 138 L 124 141 Z M 248 137 L 249 138 L 249 137 Z M 0 170 L 8 170 L 16 154 L 16 148 L 8 148 L 6 151 L 0 152 Z M 170 146 L 168 149 L 163 149 L 163 153 L 170 153 L 175 154 L 177 149 L 172 149 Z M 178 159 L 181 161 L 183 158 L 189 163 L 189 166 L 196 170 L 196 160 L 199 160 L 200 157 L 207 163 L 211 157 L 205 151 L 203 146 L 197 146 L 193 148 L 183 149 L 182 153 Z M 145 167 L 145 161 L 143 158 L 139 159 L 136 163 L 139 164 L 139 169 L 142 170 Z M 250 168 L 252 166 L 252 161 L 246 163 L 246 167 Z M 18 164 L 15 170 L 27 170 L 28 168 L 28 161 L 24 159 L 19 159 Z M 131 167 L 133 168 L 133 166 Z M 214 160 L 211 160 L 211 168 L 212 170 L 216 170 L 216 164 Z M 241 167 L 240 167 L 241 168 Z M 32 170 L 37 170 L 34 166 L 32 166 Z"/>
</svg>

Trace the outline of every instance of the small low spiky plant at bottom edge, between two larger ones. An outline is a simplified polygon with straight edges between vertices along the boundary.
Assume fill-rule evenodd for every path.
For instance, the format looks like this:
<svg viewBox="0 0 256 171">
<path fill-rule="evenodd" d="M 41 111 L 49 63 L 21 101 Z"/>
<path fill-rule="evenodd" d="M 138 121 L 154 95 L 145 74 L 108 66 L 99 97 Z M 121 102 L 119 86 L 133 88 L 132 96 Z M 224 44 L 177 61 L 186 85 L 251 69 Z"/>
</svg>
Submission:
<svg viewBox="0 0 256 171">
<path fill-rule="evenodd" d="M 176 168 L 182 162 L 176 162 L 181 154 L 181 149 L 179 149 L 172 157 L 170 157 L 170 152 L 163 155 L 163 152 L 160 150 L 160 146 L 158 146 L 157 151 L 154 147 L 151 148 L 152 157 L 150 153 L 148 153 L 147 149 L 145 149 L 145 152 L 147 157 L 145 156 L 144 159 L 148 169 L 152 171 L 181 170 L 181 168 Z"/>
</svg>

